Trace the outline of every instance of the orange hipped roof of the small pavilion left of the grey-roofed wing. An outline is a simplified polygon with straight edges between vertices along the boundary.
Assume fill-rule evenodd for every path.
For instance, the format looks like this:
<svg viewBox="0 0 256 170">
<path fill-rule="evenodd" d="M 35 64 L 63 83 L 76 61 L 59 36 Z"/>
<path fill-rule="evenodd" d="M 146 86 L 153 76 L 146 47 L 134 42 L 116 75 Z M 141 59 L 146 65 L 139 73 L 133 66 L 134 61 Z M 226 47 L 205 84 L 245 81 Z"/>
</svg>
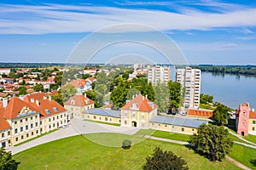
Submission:
<svg viewBox="0 0 256 170">
<path fill-rule="evenodd" d="M 83 105 L 91 105 L 94 104 L 94 101 L 92 101 L 89 98 L 85 98 L 83 94 L 77 94 L 68 99 L 64 105 L 76 105 L 76 106 L 83 106 Z"/>
</svg>

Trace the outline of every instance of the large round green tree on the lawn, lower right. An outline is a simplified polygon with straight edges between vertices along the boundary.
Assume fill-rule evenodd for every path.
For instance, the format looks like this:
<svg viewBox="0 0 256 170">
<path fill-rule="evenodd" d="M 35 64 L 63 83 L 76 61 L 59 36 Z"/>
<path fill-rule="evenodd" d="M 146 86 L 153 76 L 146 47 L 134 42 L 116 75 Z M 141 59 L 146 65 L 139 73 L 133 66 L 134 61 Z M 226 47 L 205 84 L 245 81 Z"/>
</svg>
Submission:
<svg viewBox="0 0 256 170">
<path fill-rule="evenodd" d="M 222 161 L 233 144 L 228 134 L 229 131 L 224 127 L 202 124 L 197 133 L 190 137 L 189 143 L 195 146 L 198 153 L 211 161 Z"/>
</svg>

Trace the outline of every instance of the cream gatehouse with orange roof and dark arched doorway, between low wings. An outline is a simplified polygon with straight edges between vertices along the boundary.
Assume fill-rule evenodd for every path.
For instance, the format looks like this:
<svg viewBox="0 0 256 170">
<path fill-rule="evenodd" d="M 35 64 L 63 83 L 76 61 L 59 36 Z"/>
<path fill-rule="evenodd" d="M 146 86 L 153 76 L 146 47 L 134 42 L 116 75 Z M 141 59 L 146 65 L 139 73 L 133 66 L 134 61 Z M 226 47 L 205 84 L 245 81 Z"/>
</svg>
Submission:
<svg viewBox="0 0 256 170">
<path fill-rule="evenodd" d="M 157 105 L 143 95 L 127 100 L 121 108 L 121 125 L 129 127 L 149 127 L 149 121 L 157 116 Z"/>
</svg>

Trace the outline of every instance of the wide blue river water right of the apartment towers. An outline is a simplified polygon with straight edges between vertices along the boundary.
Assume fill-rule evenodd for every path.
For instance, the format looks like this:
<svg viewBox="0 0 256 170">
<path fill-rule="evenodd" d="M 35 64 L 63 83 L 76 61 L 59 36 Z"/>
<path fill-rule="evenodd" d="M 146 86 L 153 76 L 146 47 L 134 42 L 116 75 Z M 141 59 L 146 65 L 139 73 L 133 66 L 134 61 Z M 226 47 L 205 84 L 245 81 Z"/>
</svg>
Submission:
<svg viewBox="0 0 256 170">
<path fill-rule="evenodd" d="M 213 95 L 214 101 L 233 109 L 244 102 L 256 109 L 256 77 L 202 72 L 201 93 Z"/>
</svg>

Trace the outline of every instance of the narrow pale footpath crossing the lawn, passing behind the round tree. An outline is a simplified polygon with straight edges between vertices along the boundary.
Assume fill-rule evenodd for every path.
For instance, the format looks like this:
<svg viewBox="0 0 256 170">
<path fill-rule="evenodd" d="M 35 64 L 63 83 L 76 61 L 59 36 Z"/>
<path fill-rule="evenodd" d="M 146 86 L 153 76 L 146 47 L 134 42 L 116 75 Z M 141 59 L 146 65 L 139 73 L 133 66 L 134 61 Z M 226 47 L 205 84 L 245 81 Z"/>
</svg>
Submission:
<svg viewBox="0 0 256 170">
<path fill-rule="evenodd" d="M 179 141 L 179 140 L 163 139 L 163 138 L 158 138 L 158 137 L 153 137 L 153 136 L 145 136 L 145 138 L 170 142 L 170 143 L 174 143 L 174 144 L 190 145 L 188 142 L 183 142 L 183 141 Z M 245 165 L 241 164 L 239 161 L 234 160 L 230 156 L 225 156 L 225 158 L 227 158 L 227 160 L 231 161 L 232 163 L 234 163 L 237 167 L 240 167 L 241 169 L 252 170 L 251 168 L 246 167 Z"/>
</svg>

